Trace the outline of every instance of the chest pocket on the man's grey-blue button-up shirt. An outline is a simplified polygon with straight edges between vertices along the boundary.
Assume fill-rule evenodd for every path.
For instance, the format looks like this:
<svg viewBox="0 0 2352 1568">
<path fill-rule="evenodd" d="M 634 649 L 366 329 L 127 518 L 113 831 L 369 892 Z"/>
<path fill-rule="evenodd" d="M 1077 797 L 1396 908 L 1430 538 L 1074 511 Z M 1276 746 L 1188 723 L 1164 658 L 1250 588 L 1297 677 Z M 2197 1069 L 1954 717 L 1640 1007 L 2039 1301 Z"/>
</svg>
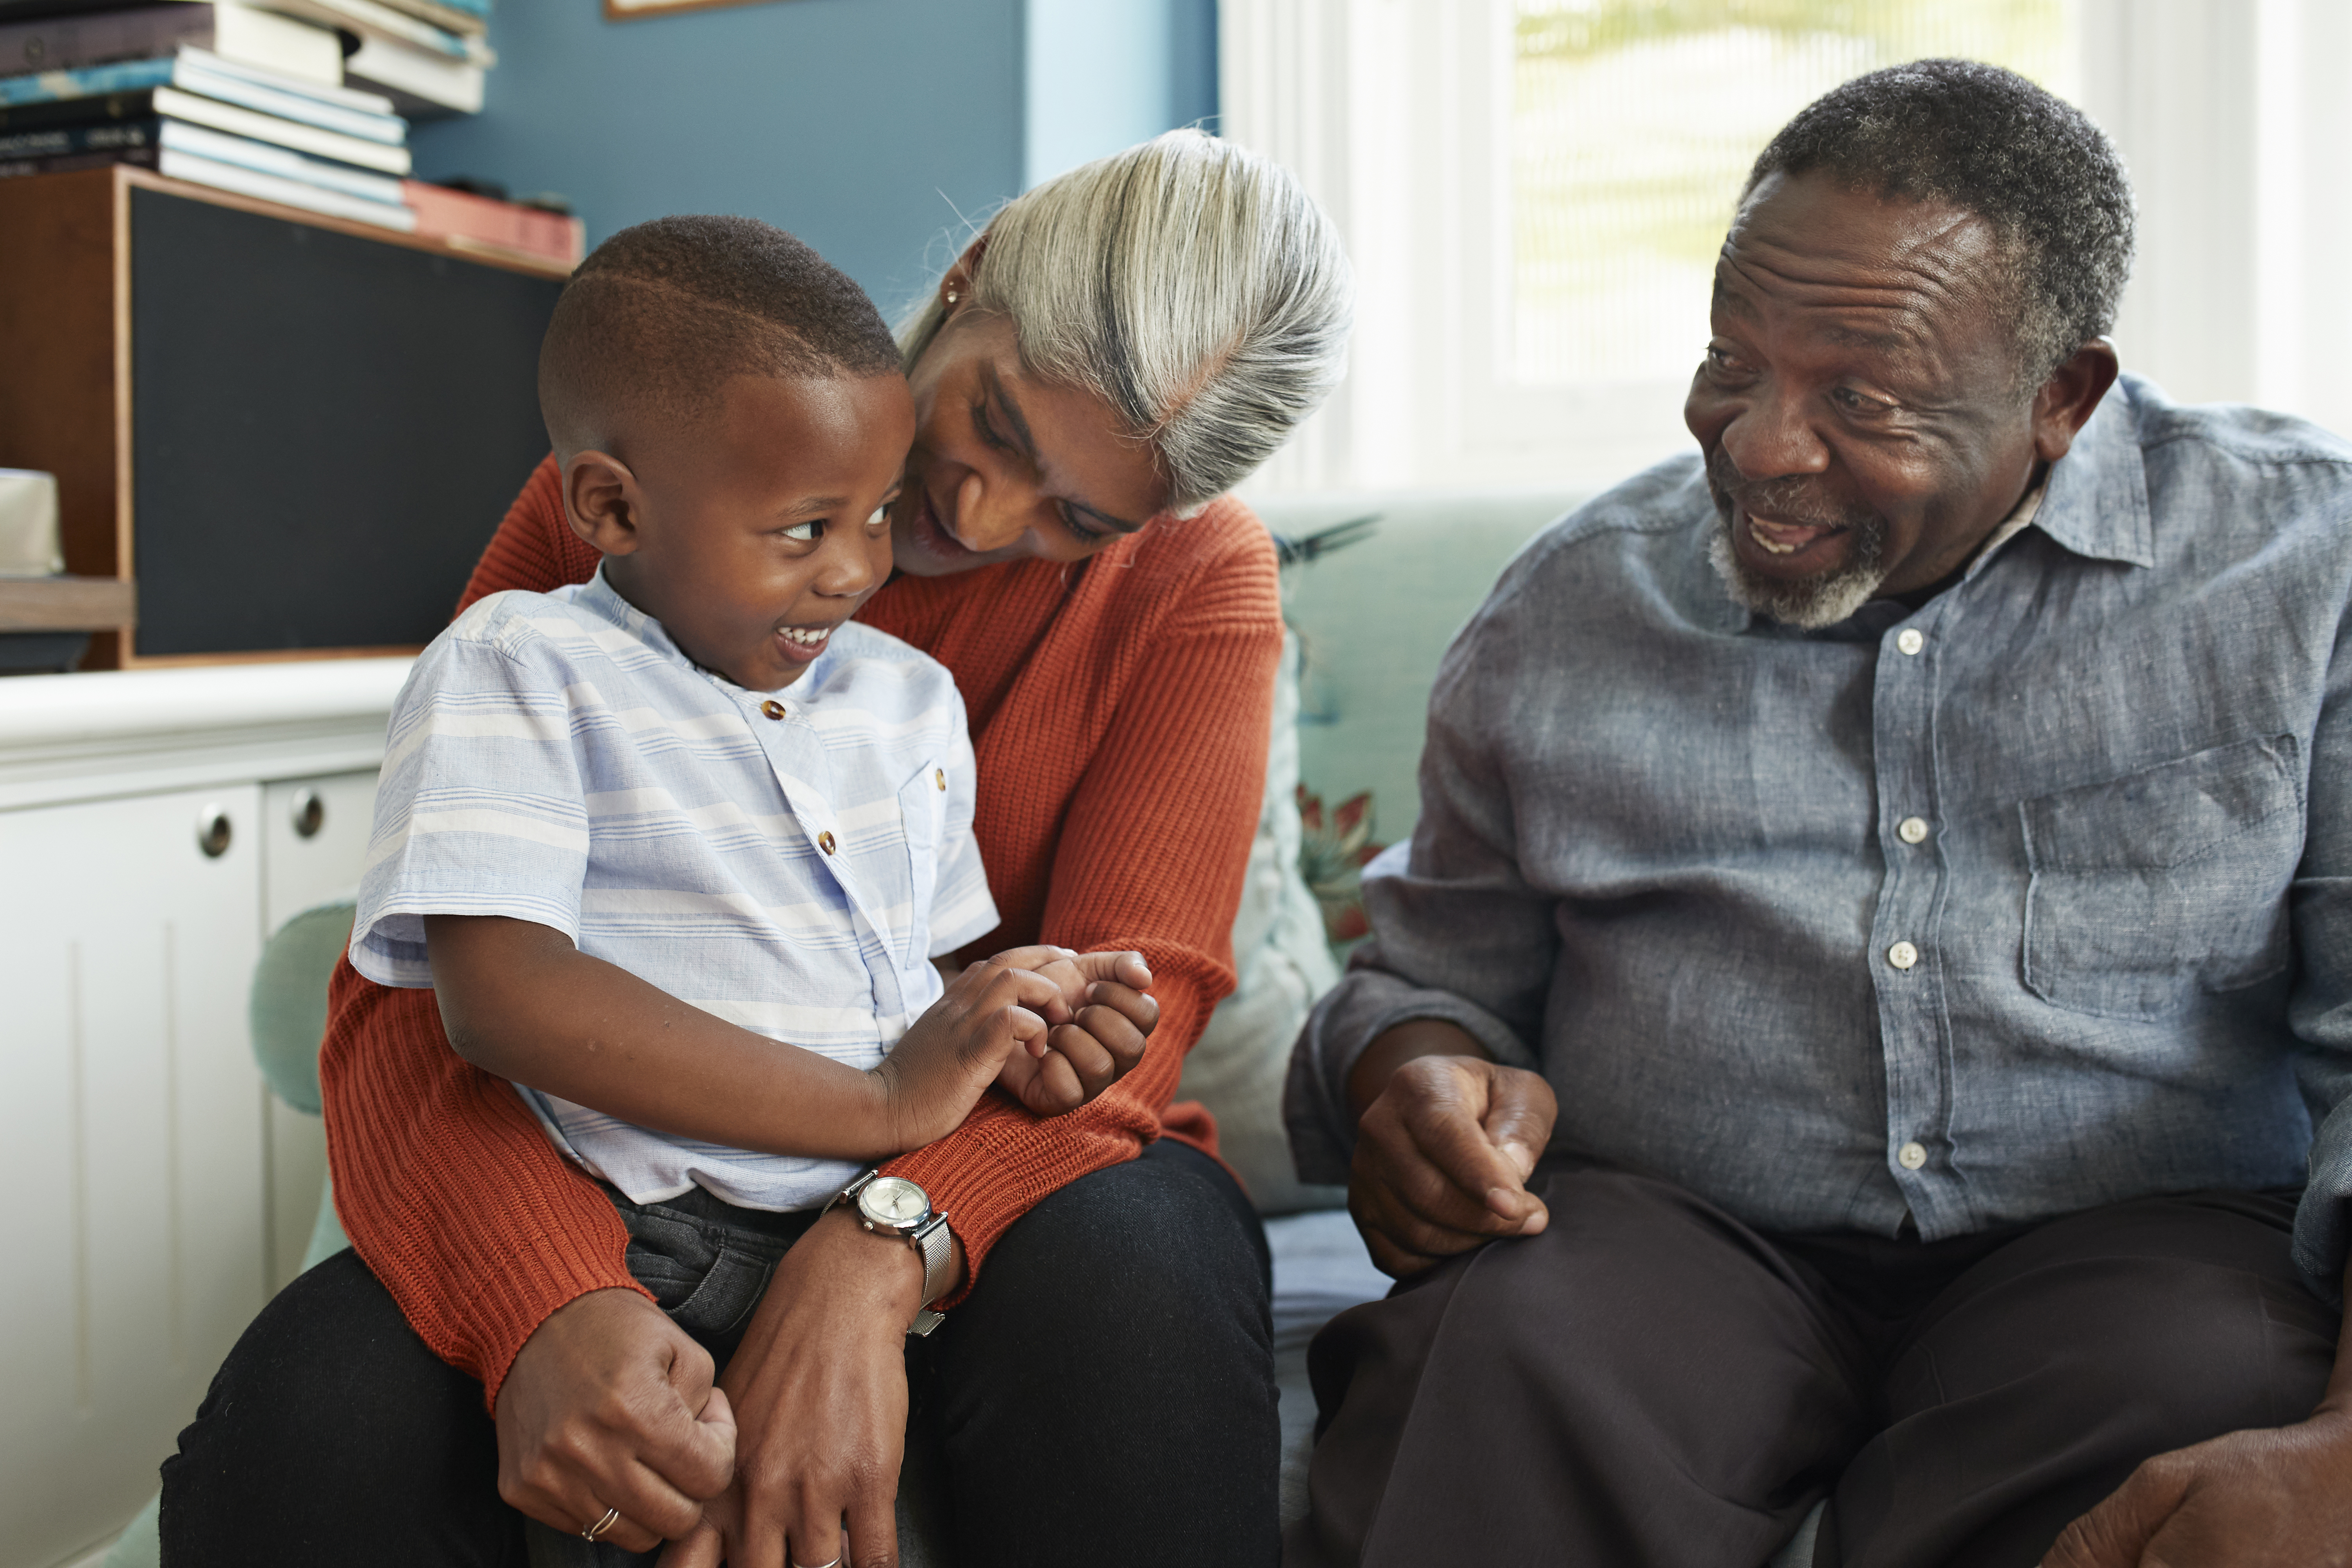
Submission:
<svg viewBox="0 0 2352 1568">
<path fill-rule="evenodd" d="M 2027 990 L 2157 1018 L 2284 971 L 2300 780 L 2272 736 L 2023 802 Z"/>
</svg>

